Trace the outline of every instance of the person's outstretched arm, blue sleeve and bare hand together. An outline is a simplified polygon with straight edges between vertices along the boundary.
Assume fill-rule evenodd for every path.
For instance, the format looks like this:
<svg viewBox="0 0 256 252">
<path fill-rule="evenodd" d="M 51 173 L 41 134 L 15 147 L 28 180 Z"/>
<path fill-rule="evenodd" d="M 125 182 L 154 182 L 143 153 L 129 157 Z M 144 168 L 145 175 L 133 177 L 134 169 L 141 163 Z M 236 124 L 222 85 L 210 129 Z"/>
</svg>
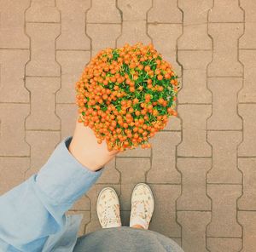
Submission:
<svg viewBox="0 0 256 252">
<path fill-rule="evenodd" d="M 0 197 L 0 251 L 42 251 L 49 238 L 72 226 L 65 212 L 116 153 L 77 122 L 73 137 L 56 146 L 38 174 Z"/>
</svg>

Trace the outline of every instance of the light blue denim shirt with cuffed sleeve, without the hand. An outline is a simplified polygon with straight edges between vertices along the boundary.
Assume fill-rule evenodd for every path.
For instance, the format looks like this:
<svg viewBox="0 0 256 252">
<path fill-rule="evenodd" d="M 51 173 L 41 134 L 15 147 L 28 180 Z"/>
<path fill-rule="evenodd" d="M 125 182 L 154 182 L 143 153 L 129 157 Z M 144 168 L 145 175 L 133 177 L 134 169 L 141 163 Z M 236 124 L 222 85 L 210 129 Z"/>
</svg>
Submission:
<svg viewBox="0 0 256 252">
<path fill-rule="evenodd" d="M 96 180 L 68 151 L 68 136 L 48 161 L 19 186 L 0 197 L 0 251 L 73 251 L 82 215 L 66 215 Z M 44 150 L 42 150 L 44 152 Z"/>
</svg>

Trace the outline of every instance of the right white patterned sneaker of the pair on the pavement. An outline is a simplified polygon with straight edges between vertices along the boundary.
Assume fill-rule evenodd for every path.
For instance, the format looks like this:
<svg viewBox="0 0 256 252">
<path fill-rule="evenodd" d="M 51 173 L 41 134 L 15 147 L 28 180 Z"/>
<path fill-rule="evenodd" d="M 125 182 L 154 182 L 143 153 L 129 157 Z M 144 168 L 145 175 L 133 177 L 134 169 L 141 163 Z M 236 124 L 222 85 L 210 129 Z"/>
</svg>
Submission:
<svg viewBox="0 0 256 252">
<path fill-rule="evenodd" d="M 150 187 L 139 183 L 131 194 L 130 226 L 140 225 L 148 229 L 154 212 L 154 196 Z"/>
</svg>

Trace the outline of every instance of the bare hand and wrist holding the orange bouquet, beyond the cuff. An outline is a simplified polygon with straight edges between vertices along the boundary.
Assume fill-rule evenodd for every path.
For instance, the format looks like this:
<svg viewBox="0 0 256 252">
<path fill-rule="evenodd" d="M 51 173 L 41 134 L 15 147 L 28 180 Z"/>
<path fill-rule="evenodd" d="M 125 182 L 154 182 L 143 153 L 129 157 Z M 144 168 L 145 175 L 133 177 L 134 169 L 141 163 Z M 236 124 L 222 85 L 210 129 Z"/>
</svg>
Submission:
<svg viewBox="0 0 256 252">
<path fill-rule="evenodd" d="M 109 152 L 105 140 L 102 141 L 102 144 L 98 144 L 94 131 L 88 126 L 85 127 L 84 123 L 79 123 L 78 118 L 68 151 L 79 163 L 92 171 L 96 171 L 113 159 L 119 151 Z"/>
</svg>

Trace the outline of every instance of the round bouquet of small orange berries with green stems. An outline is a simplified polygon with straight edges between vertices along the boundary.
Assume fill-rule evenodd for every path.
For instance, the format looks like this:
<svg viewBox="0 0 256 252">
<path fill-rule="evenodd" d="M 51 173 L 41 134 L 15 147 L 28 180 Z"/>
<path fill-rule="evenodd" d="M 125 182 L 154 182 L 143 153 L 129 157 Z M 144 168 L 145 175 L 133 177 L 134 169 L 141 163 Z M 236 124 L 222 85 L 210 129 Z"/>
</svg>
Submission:
<svg viewBox="0 0 256 252">
<path fill-rule="evenodd" d="M 152 43 L 103 49 L 76 83 L 79 123 L 108 151 L 150 147 L 148 140 L 177 116 L 177 74 Z"/>
</svg>

